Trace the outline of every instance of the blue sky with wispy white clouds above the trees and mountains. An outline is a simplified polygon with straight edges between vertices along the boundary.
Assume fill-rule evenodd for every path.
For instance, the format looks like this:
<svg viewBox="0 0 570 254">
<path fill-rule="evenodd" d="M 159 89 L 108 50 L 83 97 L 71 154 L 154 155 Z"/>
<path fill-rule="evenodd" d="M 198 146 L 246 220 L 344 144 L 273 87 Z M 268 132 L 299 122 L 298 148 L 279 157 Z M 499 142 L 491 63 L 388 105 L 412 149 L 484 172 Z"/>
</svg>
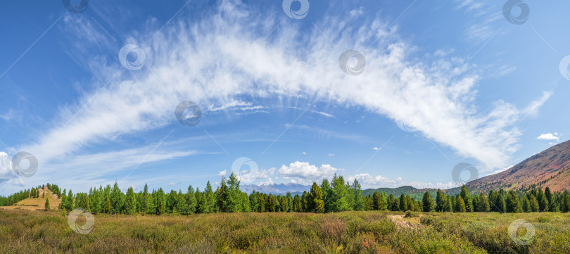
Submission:
<svg viewBox="0 0 570 254">
<path fill-rule="evenodd" d="M 569 139 L 567 1 L 1 5 L 4 196 L 232 171 L 447 189 Z"/>
</svg>

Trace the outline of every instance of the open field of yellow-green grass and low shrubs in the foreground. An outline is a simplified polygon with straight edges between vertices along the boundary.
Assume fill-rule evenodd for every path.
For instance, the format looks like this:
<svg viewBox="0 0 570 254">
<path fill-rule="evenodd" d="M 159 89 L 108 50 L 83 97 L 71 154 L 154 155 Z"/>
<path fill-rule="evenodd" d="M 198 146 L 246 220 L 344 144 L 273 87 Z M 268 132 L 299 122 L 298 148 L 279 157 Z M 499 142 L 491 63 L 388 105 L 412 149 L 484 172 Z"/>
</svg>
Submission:
<svg viewBox="0 0 570 254">
<path fill-rule="evenodd" d="M 80 220 L 84 219 L 80 217 Z M 95 215 L 88 234 L 60 212 L 0 209 L 5 253 L 570 253 L 570 214 L 337 212 Z M 517 219 L 528 246 L 509 237 Z M 82 222 L 78 221 L 78 224 Z M 524 227 L 519 234 L 524 235 Z"/>
</svg>

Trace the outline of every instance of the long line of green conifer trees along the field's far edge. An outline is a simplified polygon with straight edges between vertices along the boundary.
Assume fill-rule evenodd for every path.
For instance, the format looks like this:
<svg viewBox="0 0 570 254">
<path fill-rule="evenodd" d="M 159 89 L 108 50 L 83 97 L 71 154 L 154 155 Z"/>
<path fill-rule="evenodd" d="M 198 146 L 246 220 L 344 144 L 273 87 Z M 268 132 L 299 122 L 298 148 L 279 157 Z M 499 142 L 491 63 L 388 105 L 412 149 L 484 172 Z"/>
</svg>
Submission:
<svg viewBox="0 0 570 254">
<path fill-rule="evenodd" d="M 61 198 L 60 210 L 70 211 L 83 208 L 91 212 L 110 214 L 155 214 L 177 213 L 189 215 L 208 212 L 341 212 L 348 210 L 392 210 L 419 212 L 569 212 L 570 194 L 568 191 L 552 193 L 547 187 L 530 191 L 489 191 L 473 196 L 467 186 L 462 186 L 456 196 L 448 196 L 438 189 L 435 198 L 426 191 L 417 201 L 403 193 L 399 197 L 385 192 L 374 192 L 364 196 L 359 182 L 346 182 L 342 176 L 323 179 L 321 184 L 314 182 L 310 191 L 302 195 L 272 195 L 253 191 L 251 194 L 239 189 L 239 179 L 232 172 L 228 179 L 222 177 L 220 186 L 213 190 L 210 182 L 203 191 L 189 186 L 186 192 L 170 191 L 162 188 L 135 193 L 132 187 L 123 193 L 115 182 L 113 186 L 99 186 L 89 189 L 89 193 L 72 193 L 59 189 L 55 184 L 47 188 Z M 42 186 L 43 187 L 43 186 Z M 39 187 L 38 187 L 39 188 Z M 38 197 L 37 189 L 14 193 L 7 198 L 7 205 L 28 197 Z"/>
</svg>

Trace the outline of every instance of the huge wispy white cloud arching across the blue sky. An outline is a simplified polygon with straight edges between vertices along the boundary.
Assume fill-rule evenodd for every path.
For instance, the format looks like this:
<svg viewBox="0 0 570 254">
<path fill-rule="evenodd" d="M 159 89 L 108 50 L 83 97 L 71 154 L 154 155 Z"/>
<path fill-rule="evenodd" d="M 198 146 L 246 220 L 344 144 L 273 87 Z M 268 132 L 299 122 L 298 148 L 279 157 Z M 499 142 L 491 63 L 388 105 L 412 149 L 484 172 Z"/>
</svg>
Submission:
<svg viewBox="0 0 570 254">
<path fill-rule="evenodd" d="M 352 29 L 343 17 L 325 18 L 317 25 L 334 39 L 331 44 L 319 31 L 300 34 L 294 23 L 277 27 L 290 20 L 274 15 L 252 21 L 246 18 L 251 16 L 247 8 L 222 1 L 218 13 L 200 23 L 179 20 L 158 34 L 132 34 L 129 42 L 141 46 L 147 56 L 137 72 L 125 70 L 115 59 L 108 61 L 105 53 L 74 56 L 99 79 L 87 87 L 98 88 L 85 92 L 77 103 L 62 106 L 55 124 L 46 127 L 36 143 L 20 150 L 50 163 L 117 135 L 164 127 L 175 121 L 172 112 L 179 101 L 195 101 L 208 110 L 211 105 L 240 106 L 236 97 L 243 94 L 305 95 L 363 106 L 414 126 L 427 138 L 488 167 L 503 167 L 517 150 L 520 132 L 514 123 L 519 109 L 498 101 L 490 113 L 478 112 L 473 101 L 479 77 L 465 73 L 470 66 L 449 59 L 411 61 L 408 53 L 416 47 L 400 41 L 383 20 Z M 77 25 L 74 17 L 64 19 L 66 34 L 76 35 L 70 38 L 77 43 L 70 55 L 91 48 L 116 50 L 91 20 L 82 19 Z M 146 44 L 153 34 L 156 37 Z M 376 35 L 381 45 L 367 49 Z M 306 47 L 291 41 L 305 42 Z M 346 49 L 365 53 L 362 75 L 349 76 L 338 68 L 338 56 Z"/>
</svg>

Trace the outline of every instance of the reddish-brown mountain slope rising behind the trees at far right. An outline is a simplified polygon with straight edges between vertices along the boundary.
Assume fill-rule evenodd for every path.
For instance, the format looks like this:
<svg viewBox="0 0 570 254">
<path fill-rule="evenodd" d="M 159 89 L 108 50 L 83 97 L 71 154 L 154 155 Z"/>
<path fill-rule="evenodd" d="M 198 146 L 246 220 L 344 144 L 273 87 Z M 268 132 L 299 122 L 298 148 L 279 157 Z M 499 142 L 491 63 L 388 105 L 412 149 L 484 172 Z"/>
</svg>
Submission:
<svg viewBox="0 0 570 254">
<path fill-rule="evenodd" d="M 509 170 L 467 183 L 472 191 L 527 190 L 547 186 L 551 191 L 570 189 L 570 141 L 552 146 Z"/>
</svg>

